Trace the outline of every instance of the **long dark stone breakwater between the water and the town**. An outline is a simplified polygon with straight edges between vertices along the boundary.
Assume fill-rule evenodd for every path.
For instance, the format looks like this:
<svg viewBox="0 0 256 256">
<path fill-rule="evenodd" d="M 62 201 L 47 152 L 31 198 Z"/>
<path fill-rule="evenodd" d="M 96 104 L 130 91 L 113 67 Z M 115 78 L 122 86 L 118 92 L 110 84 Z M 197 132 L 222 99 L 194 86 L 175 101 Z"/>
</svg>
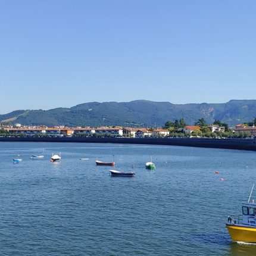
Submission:
<svg viewBox="0 0 256 256">
<path fill-rule="evenodd" d="M 256 139 L 206 139 L 206 138 L 15 138 L 1 137 L 0 142 L 80 142 L 122 143 L 172 146 L 195 146 L 200 148 L 226 148 L 256 151 Z"/>
</svg>

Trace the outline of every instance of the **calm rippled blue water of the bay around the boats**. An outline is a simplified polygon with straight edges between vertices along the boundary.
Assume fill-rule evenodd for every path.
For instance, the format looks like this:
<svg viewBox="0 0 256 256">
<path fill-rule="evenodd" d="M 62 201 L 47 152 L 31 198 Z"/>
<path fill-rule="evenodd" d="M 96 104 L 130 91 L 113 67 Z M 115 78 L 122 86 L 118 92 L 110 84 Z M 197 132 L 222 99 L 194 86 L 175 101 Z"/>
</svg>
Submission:
<svg viewBox="0 0 256 256">
<path fill-rule="evenodd" d="M 30 160 L 42 148 L 45 158 Z M 50 163 L 52 152 L 61 152 L 60 163 Z M 14 164 L 17 154 L 23 161 Z M 117 169 L 136 176 L 111 177 L 96 166 L 113 154 Z M 255 255 L 256 245 L 230 241 L 225 228 L 256 181 L 255 154 L 0 142 L 0 254 Z M 155 171 L 145 169 L 151 155 Z"/>
</svg>

